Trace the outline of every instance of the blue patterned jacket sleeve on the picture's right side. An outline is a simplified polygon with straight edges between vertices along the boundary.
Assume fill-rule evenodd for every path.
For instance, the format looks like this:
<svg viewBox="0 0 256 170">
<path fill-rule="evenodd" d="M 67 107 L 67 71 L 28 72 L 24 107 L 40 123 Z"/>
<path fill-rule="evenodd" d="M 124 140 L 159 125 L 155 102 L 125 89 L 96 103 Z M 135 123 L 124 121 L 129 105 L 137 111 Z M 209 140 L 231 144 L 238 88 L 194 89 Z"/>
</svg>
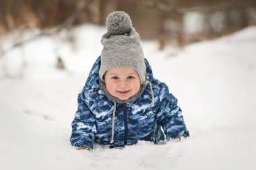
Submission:
<svg viewBox="0 0 256 170">
<path fill-rule="evenodd" d="M 189 136 L 189 131 L 181 114 L 181 108 L 177 105 L 177 98 L 169 93 L 168 87 L 164 83 L 160 83 L 159 97 L 160 110 L 157 119 L 164 130 L 166 139 Z"/>
</svg>

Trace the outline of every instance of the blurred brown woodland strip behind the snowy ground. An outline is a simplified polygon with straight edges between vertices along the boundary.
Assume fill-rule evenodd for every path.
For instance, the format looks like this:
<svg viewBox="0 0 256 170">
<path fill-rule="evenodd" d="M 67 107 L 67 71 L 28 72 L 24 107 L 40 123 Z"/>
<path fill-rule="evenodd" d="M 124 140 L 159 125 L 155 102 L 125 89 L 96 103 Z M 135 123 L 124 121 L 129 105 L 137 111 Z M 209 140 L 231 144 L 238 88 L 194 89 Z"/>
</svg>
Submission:
<svg viewBox="0 0 256 170">
<path fill-rule="evenodd" d="M 11 30 L 71 28 L 86 22 L 104 26 L 115 10 L 129 13 L 141 38 L 158 40 L 160 49 L 168 42 L 183 46 L 256 23 L 255 0 L 0 0 L 0 36 Z M 185 32 L 191 11 L 204 18 L 198 32 Z"/>
</svg>

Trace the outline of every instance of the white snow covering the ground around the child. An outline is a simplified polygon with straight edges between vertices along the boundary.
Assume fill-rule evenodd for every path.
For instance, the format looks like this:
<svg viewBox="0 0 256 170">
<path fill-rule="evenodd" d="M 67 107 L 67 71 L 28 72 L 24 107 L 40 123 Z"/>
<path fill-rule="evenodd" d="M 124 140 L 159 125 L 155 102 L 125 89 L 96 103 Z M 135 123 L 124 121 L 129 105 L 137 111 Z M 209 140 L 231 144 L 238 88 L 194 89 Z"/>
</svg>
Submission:
<svg viewBox="0 0 256 170">
<path fill-rule="evenodd" d="M 73 46 L 63 32 L 0 58 L 0 169 L 255 169 L 256 27 L 183 50 L 142 42 L 154 76 L 179 99 L 191 137 L 75 150 L 69 137 L 77 94 L 104 32 L 79 26 Z M 9 38 L 1 38 L 3 48 Z M 56 54 L 66 71 L 55 69 Z"/>
</svg>

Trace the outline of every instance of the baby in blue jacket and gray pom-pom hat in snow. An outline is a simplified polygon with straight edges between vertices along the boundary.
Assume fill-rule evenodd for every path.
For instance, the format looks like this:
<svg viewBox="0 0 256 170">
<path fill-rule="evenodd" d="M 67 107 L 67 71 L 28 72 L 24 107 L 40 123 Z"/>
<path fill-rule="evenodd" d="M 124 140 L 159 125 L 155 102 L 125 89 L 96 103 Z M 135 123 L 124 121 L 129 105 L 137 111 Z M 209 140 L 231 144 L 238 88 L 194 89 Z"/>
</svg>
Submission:
<svg viewBox="0 0 256 170">
<path fill-rule="evenodd" d="M 189 136 L 177 99 L 153 77 L 129 15 L 110 13 L 106 28 L 101 56 L 78 95 L 71 144 L 113 148 Z"/>
</svg>

